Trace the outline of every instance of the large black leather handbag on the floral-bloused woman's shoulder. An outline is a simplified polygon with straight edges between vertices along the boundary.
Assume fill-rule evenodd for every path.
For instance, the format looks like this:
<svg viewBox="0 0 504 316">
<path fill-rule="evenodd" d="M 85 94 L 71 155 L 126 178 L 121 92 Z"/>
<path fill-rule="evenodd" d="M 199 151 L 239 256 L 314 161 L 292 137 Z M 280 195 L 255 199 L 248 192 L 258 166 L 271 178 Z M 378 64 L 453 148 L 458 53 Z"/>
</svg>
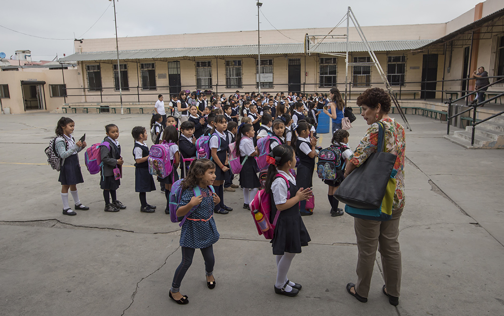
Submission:
<svg viewBox="0 0 504 316">
<path fill-rule="evenodd" d="M 380 208 L 397 155 L 384 149 L 385 125 L 379 123 L 377 152 L 353 170 L 336 189 L 334 197 L 348 206 L 374 210 Z"/>
</svg>

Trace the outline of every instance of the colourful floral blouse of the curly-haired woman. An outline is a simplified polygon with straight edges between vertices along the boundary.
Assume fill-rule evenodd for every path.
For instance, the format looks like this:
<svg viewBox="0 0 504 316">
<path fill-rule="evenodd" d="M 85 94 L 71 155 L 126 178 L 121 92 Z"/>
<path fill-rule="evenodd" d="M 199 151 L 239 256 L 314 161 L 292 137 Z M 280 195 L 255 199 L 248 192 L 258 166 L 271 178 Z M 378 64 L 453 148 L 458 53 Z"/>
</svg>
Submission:
<svg viewBox="0 0 504 316">
<path fill-rule="evenodd" d="M 394 204 L 392 210 L 404 208 L 404 157 L 406 141 L 404 137 L 404 128 L 394 118 L 384 118 L 381 120 L 385 125 L 385 144 L 386 151 L 397 155 L 394 169 L 396 175 L 396 192 L 394 194 Z M 373 123 L 367 129 L 366 134 L 360 140 L 349 161 L 357 167 L 366 161 L 366 159 L 376 152 L 378 142 L 378 124 Z"/>
</svg>

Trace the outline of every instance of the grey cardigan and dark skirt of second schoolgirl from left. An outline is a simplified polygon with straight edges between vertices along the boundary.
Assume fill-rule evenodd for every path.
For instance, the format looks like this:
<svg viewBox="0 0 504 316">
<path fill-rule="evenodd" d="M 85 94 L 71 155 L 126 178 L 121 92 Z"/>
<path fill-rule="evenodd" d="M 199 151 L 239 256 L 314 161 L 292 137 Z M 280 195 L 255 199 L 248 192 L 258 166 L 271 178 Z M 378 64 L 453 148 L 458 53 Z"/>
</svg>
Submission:
<svg viewBox="0 0 504 316">
<path fill-rule="evenodd" d="M 156 122 L 157 123 L 157 122 Z M 103 142 L 107 142 L 110 150 L 106 146 L 100 146 L 101 162 L 100 188 L 103 190 L 116 190 L 121 185 L 120 179 L 114 179 L 114 169 L 117 166 L 117 159 L 121 158 L 121 146 L 117 140 L 105 137 Z"/>
</svg>

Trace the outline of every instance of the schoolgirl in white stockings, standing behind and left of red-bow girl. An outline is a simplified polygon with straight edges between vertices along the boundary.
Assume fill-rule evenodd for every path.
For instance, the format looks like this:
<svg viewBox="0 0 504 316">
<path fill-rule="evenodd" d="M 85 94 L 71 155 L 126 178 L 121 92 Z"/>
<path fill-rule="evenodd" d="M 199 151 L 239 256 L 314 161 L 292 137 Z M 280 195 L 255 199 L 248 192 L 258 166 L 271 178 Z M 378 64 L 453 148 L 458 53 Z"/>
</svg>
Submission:
<svg viewBox="0 0 504 316">
<path fill-rule="evenodd" d="M 259 155 L 254 147 L 254 128 L 251 124 L 241 124 L 236 136 L 236 155 L 240 155 L 240 162 L 243 163 L 240 171 L 240 186 L 243 188 L 243 208 L 250 210 L 250 202 L 261 187 L 257 176 L 258 167 L 255 156 Z"/>
</svg>

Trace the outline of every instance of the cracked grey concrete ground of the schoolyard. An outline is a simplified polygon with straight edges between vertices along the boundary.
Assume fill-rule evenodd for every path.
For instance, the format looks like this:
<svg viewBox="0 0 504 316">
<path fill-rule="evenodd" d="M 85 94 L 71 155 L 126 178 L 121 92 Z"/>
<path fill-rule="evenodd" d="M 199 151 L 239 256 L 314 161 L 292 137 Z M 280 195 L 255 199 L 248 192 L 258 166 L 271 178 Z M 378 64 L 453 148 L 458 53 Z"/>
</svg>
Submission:
<svg viewBox="0 0 504 316">
<path fill-rule="evenodd" d="M 502 315 L 504 314 L 504 151 L 466 150 L 445 139 L 446 125 L 407 115 L 406 208 L 400 242 L 403 278 L 400 304 L 382 294 L 377 254 L 369 300 L 345 290 L 356 281 L 353 219 L 329 215 L 327 186 L 313 181 L 316 209 L 303 220 L 312 241 L 294 258 L 289 278 L 303 289 L 294 298 L 276 295 L 275 259 L 257 234 L 240 189 L 225 193 L 228 215 L 215 215 L 217 287 L 206 287 L 197 253 L 181 291 L 186 306 L 168 291 L 180 261 L 179 227 L 162 211 L 166 200 L 149 193 L 154 214 L 140 213 L 134 189 L 133 139 L 148 114 L 73 114 L 75 136 L 100 142 L 104 125 L 116 123 L 125 160 L 118 199 L 128 208 L 103 212 L 99 175 L 83 166 L 78 185 L 89 211 L 61 214 L 58 173 L 44 149 L 60 114 L 0 115 L 0 314 L 2 315 Z M 350 145 L 366 130 L 359 117 Z M 329 134 L 321 136 L 326 147 Z M 235 180 L 237 182 L 237 180 Z M 71 204 L 73 203 L 70 199 Z"/>
</svg>

